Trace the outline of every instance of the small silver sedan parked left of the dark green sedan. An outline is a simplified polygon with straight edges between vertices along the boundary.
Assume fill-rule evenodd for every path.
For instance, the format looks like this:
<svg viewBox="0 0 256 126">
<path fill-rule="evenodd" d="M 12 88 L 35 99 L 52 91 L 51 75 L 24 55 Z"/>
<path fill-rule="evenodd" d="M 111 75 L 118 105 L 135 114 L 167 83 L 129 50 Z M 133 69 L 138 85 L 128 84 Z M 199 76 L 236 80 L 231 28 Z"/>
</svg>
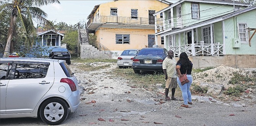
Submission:
<svg viewBox="0 0 256 126">
<path fill-rule="evenodd" d="M 117 66 L 119 66 L 119 68 L 131 67 L 133 64 L 133 57 L 135 57 L 138 52 L 138 49 L 123 50 L 122 54 L 117 58 Z"/>
</svg>

